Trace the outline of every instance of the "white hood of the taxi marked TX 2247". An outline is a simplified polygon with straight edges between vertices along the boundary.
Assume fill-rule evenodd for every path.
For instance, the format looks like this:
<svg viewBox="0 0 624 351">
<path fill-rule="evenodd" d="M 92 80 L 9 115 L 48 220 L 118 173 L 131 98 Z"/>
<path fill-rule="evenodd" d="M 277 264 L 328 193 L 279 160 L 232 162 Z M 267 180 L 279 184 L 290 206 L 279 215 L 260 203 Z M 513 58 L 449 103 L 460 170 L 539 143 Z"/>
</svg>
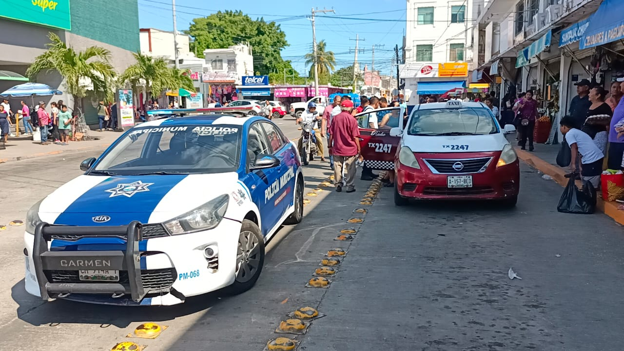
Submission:
<svg viewBox="0 0 624 351">
<path fill-rule="evenodd" d="M 404 134 L 402 145 L 413 152 L 488 152 L 502 151 L 509 144 L 502 133 L 479 136 L 411 136 Z"/>
</svg>

